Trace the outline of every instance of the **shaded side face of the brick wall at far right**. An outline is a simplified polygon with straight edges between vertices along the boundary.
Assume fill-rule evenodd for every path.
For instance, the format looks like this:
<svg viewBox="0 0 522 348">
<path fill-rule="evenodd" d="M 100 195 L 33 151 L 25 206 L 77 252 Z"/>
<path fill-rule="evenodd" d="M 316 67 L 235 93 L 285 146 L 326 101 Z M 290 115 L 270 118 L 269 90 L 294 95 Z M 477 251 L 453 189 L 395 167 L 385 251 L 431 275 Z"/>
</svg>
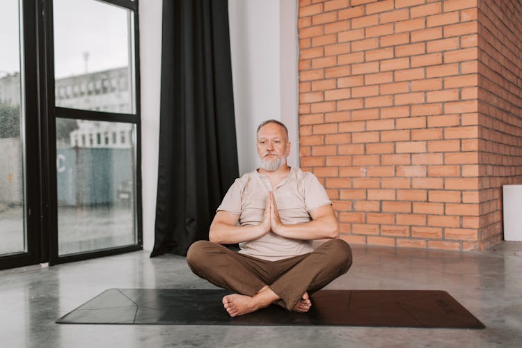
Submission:
<svg viewBox="0 0 522 348">
<path fill-rule="evenodd" d="M 522 183 L 522 4 L 481 0 L 478 9 L 478 228 L 487 248 L 502 239 L 502 185 Z"/>
</svg>

